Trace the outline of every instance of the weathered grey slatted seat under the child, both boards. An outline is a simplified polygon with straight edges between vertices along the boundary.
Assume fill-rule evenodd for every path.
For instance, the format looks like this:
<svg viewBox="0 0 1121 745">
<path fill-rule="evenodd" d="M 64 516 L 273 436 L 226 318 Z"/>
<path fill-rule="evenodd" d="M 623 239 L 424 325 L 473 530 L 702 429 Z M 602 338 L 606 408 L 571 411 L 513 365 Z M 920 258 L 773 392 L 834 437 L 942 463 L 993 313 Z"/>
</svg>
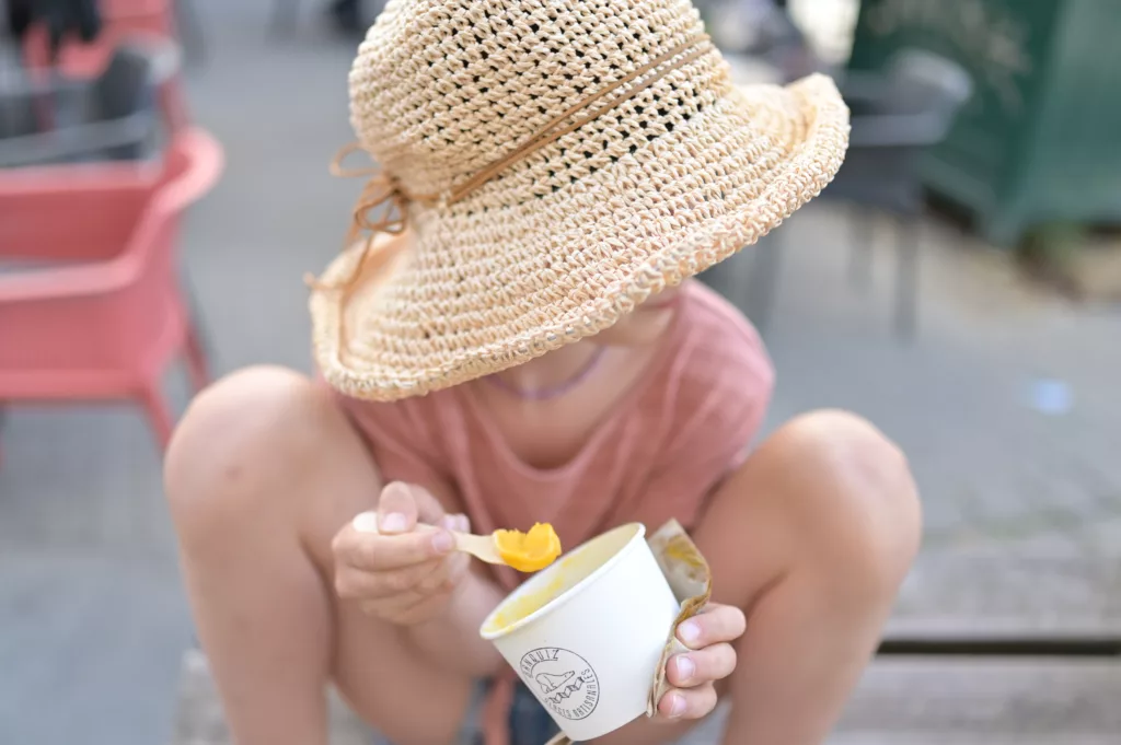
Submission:
<svg viewBox="0 0 1121 745">
<path fill-rule="evenodd" d="M 1090 560 L 924 556 L 889 640 L 1121 639 L 1121 566 Z M 830 745 L 1117 745 L 1121 656 L 880 656 Z M 333 745 L 370 745 L 337 700 Z M 720 742 L 722 717 L 680 745 Z M 184 658 L 173 745 L 230 745 L 205 658 Z M 543 744 L 544 745 L 544 744 Z"/>
</svg>

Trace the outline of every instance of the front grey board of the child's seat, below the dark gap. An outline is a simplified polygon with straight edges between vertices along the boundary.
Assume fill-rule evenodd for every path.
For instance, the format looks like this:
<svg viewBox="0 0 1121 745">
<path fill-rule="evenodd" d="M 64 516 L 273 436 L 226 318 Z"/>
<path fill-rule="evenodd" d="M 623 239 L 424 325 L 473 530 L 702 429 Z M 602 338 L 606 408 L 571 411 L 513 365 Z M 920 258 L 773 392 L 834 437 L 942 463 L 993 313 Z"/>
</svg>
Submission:
<svg viewBox="0 0 1121 745">
<path fill-rule="evenodd" d="M 1121 660 L 878 660 L 828 745 L 1117 745 Z M 720 742 L 714 717 L 679 745 Z M 332 745 L 377 742 L 337 699 Z M 184 658 L 174 745 L 232 745 L 201 652 Z M 544 745 L 544 743 L 541 744 Z"/>
</svg>

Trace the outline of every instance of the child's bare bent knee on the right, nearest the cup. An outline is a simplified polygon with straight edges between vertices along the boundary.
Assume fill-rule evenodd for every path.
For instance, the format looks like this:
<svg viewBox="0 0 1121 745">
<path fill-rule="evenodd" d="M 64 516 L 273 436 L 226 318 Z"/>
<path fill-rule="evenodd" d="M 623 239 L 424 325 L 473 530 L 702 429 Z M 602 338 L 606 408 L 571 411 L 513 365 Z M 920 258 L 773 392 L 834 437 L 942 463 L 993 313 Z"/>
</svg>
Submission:
<svg viewBox="0 0 1121 745">
<path fill-rule="evenodd" d="M 893 594 L 921 539 L 918 492 L 902 451 L 867 420 L 836 410 L 791 420 L 765 448 L 787 475 L 782 509 L 804 546 L 844 579 Z"/>
</svg>

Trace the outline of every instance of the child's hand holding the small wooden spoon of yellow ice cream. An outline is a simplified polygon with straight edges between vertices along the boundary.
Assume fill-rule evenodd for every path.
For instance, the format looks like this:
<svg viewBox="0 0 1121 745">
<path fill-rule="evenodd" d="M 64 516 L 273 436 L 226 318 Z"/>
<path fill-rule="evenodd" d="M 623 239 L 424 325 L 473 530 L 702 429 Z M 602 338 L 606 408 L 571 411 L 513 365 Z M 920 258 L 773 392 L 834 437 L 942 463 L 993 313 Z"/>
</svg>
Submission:
<svg viewBox="0 0 1121 745">
<path fill-rule="evenodd" d="M 416 530 L 417 522 L 438 530 Z M 444 514 L 426 490 L 387 485 L 378 514 L 362 513 L 332 542 L 335 590 L 372 616 L 413 625 L 438 616 L 467 574 L 448 530 L 469 531 L 466 515 Z"/>
</svg>

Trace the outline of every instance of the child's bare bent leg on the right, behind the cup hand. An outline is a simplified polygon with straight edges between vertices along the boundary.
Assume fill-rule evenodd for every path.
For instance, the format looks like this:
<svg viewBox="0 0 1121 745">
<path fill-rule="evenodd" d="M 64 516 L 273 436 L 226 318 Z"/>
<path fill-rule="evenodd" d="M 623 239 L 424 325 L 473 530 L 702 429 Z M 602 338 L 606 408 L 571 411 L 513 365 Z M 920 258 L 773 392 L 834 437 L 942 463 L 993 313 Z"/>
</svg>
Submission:
<svg viewBox="0 0 1121 745">
<path fill-rule="evenodd" d="M 748 616 L 728 745 L 824 742 L 918 549 L 919 512 L 904 456 L 843 412 L 789 422 L 714 495 L 695 538 L 714 599 Z M 667 742 L 683 727 L 640 720 L 609 739 Z"/>
</svg>

